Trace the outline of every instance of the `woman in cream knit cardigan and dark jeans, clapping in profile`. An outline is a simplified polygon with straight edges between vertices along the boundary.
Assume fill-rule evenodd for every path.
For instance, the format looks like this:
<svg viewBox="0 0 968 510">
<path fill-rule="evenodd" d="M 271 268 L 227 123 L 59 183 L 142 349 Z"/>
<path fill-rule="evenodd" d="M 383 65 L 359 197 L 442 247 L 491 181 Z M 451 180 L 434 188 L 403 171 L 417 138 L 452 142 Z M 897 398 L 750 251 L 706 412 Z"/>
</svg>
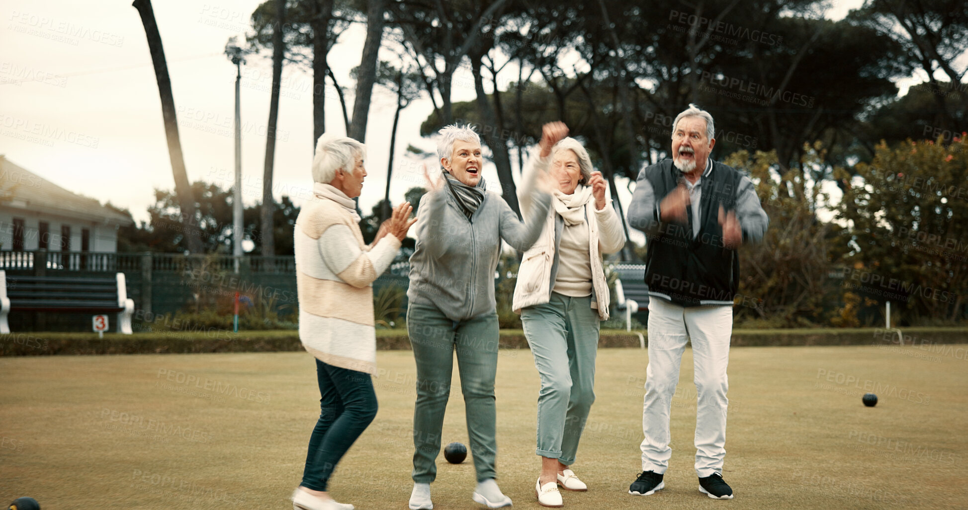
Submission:
<svg viewBox="0 0 968 510">
<path fill-rule="evenodd" d="M 299 340 L 316 357 L 319 419 L 309 440 L 295 510 L 352 510 L 326 492 L 333 469 L 377 415 L 370 375 L 377 370 L 373 281 L 407 237 L 413 208 L 404 202 L 363 244 L 353 197 L 366 177 L 366 147 L 344 136 L 319 136 L 313 158 L 314 200 L 294 230 Z"/>
</svg>

